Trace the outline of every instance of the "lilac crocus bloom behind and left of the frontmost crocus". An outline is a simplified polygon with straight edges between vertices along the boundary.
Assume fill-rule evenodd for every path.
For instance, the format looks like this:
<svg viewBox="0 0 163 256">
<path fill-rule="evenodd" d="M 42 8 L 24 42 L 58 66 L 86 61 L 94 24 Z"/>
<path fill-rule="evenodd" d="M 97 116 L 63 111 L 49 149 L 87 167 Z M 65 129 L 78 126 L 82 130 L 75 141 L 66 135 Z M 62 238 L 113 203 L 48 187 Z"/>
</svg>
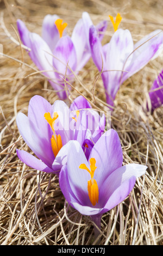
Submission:
<svg viewBox="0 0 163 256">
<path fill-rule="evenodd" d="M 70 108 L 82 104 L 90 106 L 83 96 L 79 96 Z M 18 113 L 16 121 L 24 141 L 41 161 L 24 150 L 17 149 L 17 156 L 28 166 L 47 173 L 57 172 L 66 164 L 67 148 L 72 140 L 83 146 L 89 121 L 95 122 L 90 116 L 88 120 L 87 111 L 70 111 L 61 100 L 51 105 L 38 95 L 29 102 L 28 117 Z M 92 136 L 99 129 L 98 124 L 95 125 Z"/>
</svg>

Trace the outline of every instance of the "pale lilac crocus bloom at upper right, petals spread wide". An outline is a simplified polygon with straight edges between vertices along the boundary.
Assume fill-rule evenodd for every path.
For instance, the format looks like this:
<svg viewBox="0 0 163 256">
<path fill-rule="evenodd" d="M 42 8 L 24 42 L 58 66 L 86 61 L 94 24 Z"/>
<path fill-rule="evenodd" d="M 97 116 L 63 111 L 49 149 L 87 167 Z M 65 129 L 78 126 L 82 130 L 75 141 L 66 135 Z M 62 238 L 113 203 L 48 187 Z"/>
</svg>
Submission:
<svg viewBox="0 0 163 256">
<path fill-rule="evenodd" d="M 109 105 L 114 106 L 120 85 L 158 56 L 162 41 L 163 32 L 158 29 L 134 45 L 128 29 L 117 29 L 110 42 L 102 46 L 95 27 L 90 27 L 92 59 L 99 71 L 103 61 L 102 80 Z"/>
</svg>

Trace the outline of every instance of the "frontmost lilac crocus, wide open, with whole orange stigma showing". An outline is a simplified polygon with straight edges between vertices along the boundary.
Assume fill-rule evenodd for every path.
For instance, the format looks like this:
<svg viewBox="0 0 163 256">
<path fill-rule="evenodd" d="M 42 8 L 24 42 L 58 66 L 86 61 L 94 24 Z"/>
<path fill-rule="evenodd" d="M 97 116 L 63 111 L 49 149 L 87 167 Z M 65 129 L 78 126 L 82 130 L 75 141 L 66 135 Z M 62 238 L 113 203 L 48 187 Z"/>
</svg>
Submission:
<svg viewBox="0 0 163 256">
<path fill-rule="evenodd" d="M 98 139 L 88 161 L 73 141 L 60 171 L 59 184 L 67 202 L 80 214 L 91 216 L 98 227 L 102 214 L 120 204 L 147 169 L 135 163 L 122 166 L 122 161 L 120 138 L 110 129 Z"/>
</svg>

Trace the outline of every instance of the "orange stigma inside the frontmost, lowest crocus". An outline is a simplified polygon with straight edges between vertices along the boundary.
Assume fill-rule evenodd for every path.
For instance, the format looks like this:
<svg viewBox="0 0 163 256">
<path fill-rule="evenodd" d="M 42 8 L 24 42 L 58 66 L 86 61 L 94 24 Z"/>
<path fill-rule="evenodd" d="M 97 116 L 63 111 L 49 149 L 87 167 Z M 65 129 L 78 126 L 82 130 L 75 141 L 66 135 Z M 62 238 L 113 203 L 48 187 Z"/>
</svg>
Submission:
<svg viewBox="0 0 163 256">
<path fill-rule="evenodd" d="M 95 164 L 96 164 L 96 160 L 94 158 L 91 158 L 90 159 L 90 169 L 86 167 L 85 163 L 82 163 L 79 166 L 80 169 L 87 170 L 87 172 L 89 172 L 89 174 L 91 175 L 91 179 L 87 181 L 87 190 L 88 190 L 91 204 L 93 206 L 95 206 L 96 203 L 98 203 L 98 196 L 99 196 L 97 181 L 95 179 L 93 179 L 95 170 L 97 168 L 95 166 Z"/>
</svg>

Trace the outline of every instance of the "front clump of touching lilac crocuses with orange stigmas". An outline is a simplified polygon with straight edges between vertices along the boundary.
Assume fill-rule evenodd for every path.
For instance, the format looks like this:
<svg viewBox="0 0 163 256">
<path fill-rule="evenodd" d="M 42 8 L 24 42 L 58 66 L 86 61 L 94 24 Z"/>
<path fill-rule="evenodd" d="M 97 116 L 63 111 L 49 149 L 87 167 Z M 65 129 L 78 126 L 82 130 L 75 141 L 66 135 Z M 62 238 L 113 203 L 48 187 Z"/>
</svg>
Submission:
<svg viewBox="0 0 163 256">
<path fill-rule="evenodd" d="M 17 149 L 28 166 L 59 177 L 67 202 L 89 215 L 100 228 L 104 212 L 121 203 L 145 174 L 146 166 L 122 166 L 118 133 L 105 131 L 105 117 L 79 96 L 70 108 L 64 101 L 51 105 L 43 97 L 32 97 L 28 117 L 18 113 L 17 126 L 33 154 Z M 87 151 L 86 151 L 87 149 Z"/>
</svg>

